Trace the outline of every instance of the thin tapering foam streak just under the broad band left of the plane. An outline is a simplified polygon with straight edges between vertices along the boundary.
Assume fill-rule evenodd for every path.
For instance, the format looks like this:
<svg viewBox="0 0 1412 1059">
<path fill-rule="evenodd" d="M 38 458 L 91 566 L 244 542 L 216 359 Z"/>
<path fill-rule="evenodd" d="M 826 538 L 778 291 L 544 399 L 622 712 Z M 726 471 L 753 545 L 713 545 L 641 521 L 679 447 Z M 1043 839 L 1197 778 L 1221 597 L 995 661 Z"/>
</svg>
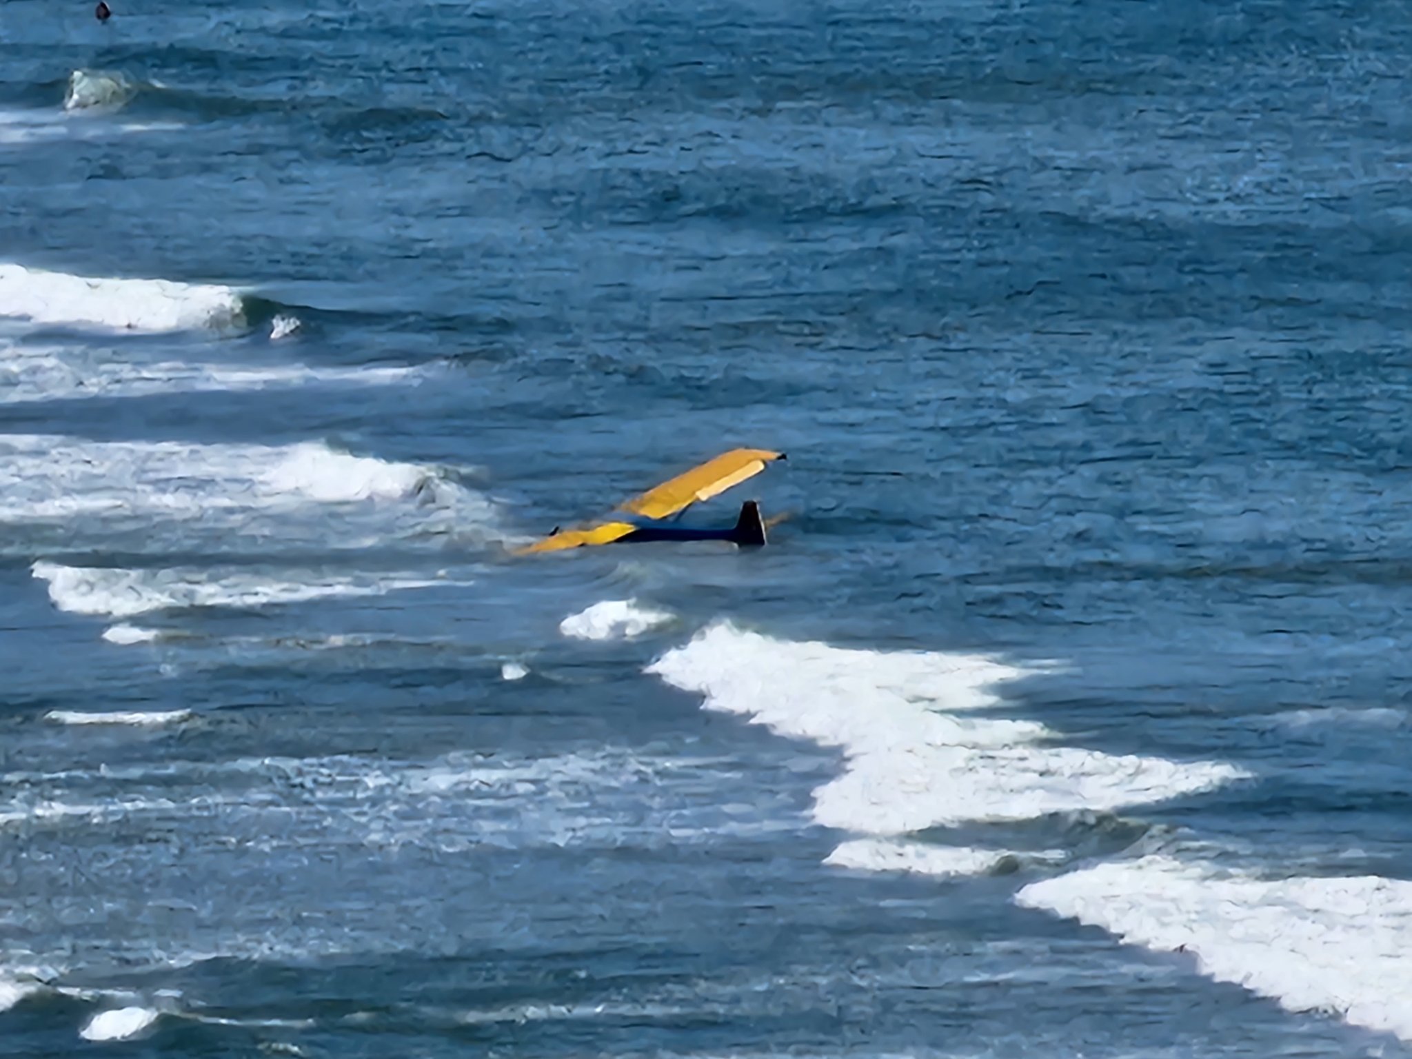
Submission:
<svg viewBox="0 0 1412 1059">
<path fill-rule="evenodd" d="M 169 609 L 254 609 L 339 596 L 383 596 L 404 589 L 465 583 L 415 575 L 329 576 L 316 570 L 261 575 L 181 568 L 133 570 L 54 562 L 37 562 L 32 572 L 49 583 L 49 600 L 59 610 L 113 618 Z M 298 573 L 302 578 L 295 579 Z"/>
</svg>

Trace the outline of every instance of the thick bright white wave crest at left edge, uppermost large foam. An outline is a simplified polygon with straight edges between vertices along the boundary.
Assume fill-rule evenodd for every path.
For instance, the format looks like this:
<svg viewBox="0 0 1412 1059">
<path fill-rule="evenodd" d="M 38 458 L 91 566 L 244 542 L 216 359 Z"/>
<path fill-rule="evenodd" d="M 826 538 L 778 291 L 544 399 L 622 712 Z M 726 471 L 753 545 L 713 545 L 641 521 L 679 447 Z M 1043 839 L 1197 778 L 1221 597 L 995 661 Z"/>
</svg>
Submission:
<svg viewBox="0 0 1412 1059">
<path fill-rule="evenodd" d="M 168 332 L 239 325 L 243 304 L 230 287 L 69 275 L 0 263 L 0 316 Z"/>
</svg>

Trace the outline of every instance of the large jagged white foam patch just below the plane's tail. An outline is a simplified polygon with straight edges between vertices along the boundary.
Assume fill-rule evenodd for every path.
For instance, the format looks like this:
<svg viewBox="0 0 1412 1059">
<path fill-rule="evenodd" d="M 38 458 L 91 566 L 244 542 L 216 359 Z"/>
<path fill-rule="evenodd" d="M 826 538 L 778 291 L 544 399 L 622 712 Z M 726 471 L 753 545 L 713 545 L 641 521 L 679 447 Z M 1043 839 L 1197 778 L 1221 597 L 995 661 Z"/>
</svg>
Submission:
<svg viewBox="0 0 1412 1059">
<path fill-rule="evenodd" d="M 861 834 L 966 820 L 1117 809 L 1216 788 L 1245 774 L 1041 746 L 1032 722 L 976 717 L 1025 671 L 981 655 L 842 650 L 717 624 L 648 666 L 781 736 L 840 747 L 843 774 L 815 791 L 815 819 Z M 973 716 L 966 716 L 973 714 Z"/>
</svg>

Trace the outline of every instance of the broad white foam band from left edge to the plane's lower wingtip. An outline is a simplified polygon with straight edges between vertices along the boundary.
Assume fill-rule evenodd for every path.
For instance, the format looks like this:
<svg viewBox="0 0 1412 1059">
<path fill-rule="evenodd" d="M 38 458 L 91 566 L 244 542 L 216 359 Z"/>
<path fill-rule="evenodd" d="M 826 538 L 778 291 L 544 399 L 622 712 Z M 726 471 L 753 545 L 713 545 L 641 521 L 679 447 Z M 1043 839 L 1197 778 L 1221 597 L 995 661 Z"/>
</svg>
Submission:
<svg viewBox="0 0 1412 1059">
<path fill-rule="evenodd" d="M 353 456 L 319 442 L 287 446 L 89 442 L 0 435 L 0 521 L 73 515 L 210 520 L 251 508 L 404 500 L 438 489 L 489 521 L 489 503 L 411 463 Z"/>
</svg>

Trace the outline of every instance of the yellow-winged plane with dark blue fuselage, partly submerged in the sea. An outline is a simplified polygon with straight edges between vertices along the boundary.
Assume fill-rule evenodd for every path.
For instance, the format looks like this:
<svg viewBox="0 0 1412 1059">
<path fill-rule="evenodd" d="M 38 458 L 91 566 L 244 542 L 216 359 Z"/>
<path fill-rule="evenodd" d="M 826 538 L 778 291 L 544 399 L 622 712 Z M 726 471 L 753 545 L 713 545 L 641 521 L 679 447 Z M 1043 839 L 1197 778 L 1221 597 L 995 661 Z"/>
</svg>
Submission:
<svg viewBox="0 0 1412 1059">
<path fill-rule="evenodd" d="M 676 518 L 695 503 L 710 500 L 733 486 L 754 477 L 772 460 L 785 459 L 782 452 L 765 449 L 731 449 L 713 460 L 692 467 L 661 486 L 635 496 L 606 518 L 572 530 L 554 532 L 542 541 L 521 548 L 515 555 L 556 552 L 594 544 L 641 544 L 645 541 L 730 541 L 740 548 L 765 545 L 765 521 L 760 505 L 747 500 L 740 505 L 740 518 L 729 530 L 698 528 L 676 524 Z"/>
</svg>

